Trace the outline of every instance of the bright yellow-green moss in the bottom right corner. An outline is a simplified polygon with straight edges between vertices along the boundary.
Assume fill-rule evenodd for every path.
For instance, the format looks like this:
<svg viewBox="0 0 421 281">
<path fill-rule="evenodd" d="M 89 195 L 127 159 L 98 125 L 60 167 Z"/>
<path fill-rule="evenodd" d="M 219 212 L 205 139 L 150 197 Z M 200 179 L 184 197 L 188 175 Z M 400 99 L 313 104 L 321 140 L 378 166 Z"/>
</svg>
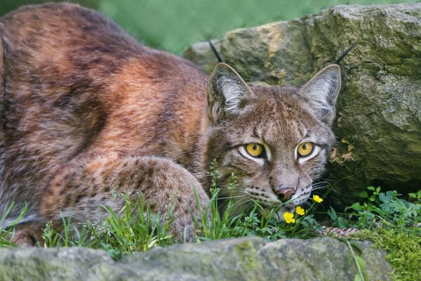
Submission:
<svg viewBox="0 0 421 281">
<path fill-rule="evenodd" d="M 364 230 L 353 238 L 370 240 L 375 247 L 387 251 L 386 259 L 394 268 L 393 280 L 419 280 L 421 276 L 420 235 L 379 228 L 375 231 Z"/>
</svg>

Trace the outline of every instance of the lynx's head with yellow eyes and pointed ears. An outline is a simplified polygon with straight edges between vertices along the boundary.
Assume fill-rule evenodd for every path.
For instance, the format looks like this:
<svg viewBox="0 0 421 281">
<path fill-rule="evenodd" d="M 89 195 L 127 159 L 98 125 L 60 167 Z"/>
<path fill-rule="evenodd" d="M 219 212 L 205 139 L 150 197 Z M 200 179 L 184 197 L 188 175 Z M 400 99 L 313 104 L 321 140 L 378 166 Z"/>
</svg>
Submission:
<svg viewBox="0 0 421 281">
<path fill-rule="evenodd" d="M 220 197 L 236 211 L 258 200 L 278 217 L 303 204 L 321 176 L 335 136 L 331 130 L 340 68 L 328 65 L 301 89 L 252 87 L 228 65 L 208 80 L 206 164 L 216 159 Z M 229 188 L 232 174 L 238 184 Z"/>
</svg>

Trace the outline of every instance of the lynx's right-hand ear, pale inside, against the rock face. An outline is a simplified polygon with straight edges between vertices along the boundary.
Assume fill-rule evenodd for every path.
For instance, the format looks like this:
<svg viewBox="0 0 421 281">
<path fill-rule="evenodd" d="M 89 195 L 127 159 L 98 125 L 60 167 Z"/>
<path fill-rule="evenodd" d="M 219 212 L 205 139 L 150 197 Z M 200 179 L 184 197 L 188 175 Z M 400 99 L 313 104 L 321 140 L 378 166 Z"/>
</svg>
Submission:
<svg viewBox="0 0 421 281">
<path fill-rule="evenodd" d="M 302 86 L 300 96 L 307 101 L 319 119 L 332 125 L 333 119 L 335 119 L 335 103 L 340 85 L 340 67 L 328 65 Z"/>
</svg>

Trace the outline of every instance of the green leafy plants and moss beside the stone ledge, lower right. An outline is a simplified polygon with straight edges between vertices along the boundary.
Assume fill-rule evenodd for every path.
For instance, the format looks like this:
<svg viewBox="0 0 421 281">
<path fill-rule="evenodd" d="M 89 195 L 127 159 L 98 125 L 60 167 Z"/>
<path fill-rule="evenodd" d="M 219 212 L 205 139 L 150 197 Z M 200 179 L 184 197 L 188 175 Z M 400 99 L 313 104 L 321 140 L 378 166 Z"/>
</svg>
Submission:
<svg viewBox="0 0 421 281">
<path fill-rule="evenodd" d="M 421 276 L 421 191 L 410 193 L 404 200 L 396 190 L 382 192 L 369 186 L 361 192 L 366 202 L 352 204 L 357 218 L 354 226 L 363 229 L 352 239 L 371 240 L 376 247 L 387 250 L 386 259 L 392 264 L 393 280 L 418 280 Z M 371 194 L 369 194 L 371 192 Z M 331 216 L 332 217 L 332 216 Z M 345 221 L 352 226 L 351 221 Z"/>
</svg>

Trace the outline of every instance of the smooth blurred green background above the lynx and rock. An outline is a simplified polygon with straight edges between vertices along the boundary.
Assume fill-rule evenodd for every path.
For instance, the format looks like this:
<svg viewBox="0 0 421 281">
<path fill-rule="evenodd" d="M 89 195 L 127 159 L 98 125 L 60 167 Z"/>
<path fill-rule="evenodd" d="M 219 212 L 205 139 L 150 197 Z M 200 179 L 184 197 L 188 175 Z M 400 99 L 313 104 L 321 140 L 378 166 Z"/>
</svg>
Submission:
<svg viewBox="0 0 421 281">
<path fill-rule="evenodd" d="M 414 3 L 421 0 L 75 0 L 113 18 L 148 46 L 181 54 L 197 41 L 238 27 L 290 20 L 339 4 Z M 43 0 L 0 0 L 0 15 Z"/>
</svg>

